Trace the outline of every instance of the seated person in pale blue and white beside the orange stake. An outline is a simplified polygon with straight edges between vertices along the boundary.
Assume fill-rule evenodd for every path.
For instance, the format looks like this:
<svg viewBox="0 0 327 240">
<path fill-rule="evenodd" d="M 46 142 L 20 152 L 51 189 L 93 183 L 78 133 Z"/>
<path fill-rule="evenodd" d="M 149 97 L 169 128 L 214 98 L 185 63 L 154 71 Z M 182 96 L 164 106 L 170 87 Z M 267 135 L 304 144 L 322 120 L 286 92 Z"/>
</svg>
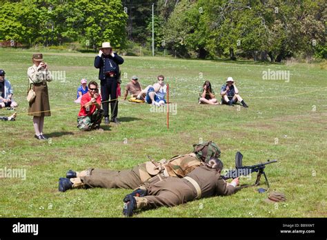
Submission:
<svg viewBox="0 0 327 240">
<path fill-rule="evenodd" d="M 156 106 L 164 106 L 166 103 L 165 96 L 167 94 L 167 86 L 165 84 L 165 77 L 159 75 L 158 82 L 148 88 L 146 94 L 146 102 Z"/>
</svg>

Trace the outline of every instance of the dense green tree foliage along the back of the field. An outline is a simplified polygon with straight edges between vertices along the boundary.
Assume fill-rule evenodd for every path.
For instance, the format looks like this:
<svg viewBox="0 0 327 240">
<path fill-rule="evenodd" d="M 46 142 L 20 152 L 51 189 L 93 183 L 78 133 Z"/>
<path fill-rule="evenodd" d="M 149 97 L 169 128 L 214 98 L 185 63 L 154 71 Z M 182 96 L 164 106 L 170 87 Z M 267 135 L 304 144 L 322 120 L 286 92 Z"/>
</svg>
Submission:
<svg viewBox="0 0 327 240">
<path fill-rule="evenodd" d="M 0 41 L 26 46 L 135 42 L 179 57 L 326 58 L 324 0 L 0 1 Z"/>
</svg>

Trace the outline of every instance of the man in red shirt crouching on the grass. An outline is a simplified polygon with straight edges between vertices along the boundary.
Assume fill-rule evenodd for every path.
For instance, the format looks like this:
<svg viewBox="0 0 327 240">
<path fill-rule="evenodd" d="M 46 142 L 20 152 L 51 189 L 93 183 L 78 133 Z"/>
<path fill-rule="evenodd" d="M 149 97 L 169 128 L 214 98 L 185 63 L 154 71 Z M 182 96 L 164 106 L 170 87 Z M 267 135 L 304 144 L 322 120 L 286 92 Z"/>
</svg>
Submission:
<svg viewBox="0 0 327 240">
<path fill-rule="evenodd" d="M 90 81 L 88 92 L 81 97 L 81 110 L 77 117 L 77 128 L 79 130 L 100 130 L 100 123 L 103 117 L 101 110 L 101 96 L 98 83 Z"/>
</svg>

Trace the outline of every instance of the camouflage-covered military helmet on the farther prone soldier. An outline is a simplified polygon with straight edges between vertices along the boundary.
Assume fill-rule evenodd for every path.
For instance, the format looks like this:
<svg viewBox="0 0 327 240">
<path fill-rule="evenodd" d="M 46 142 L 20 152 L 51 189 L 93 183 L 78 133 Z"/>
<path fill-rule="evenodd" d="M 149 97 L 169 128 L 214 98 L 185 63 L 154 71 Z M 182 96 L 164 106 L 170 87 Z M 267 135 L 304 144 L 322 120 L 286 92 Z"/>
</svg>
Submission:
<svg viewBox="0 0 327 240">
<path fill-rule="evenodd" d="M 208 163 L 212 157 L 219 158 L 221 154 L 217 144 L 213 141 L 193 144 L 193 148 L 193 152 L 197 154 L 197 157 L 206 163 Z"/>
</svg>

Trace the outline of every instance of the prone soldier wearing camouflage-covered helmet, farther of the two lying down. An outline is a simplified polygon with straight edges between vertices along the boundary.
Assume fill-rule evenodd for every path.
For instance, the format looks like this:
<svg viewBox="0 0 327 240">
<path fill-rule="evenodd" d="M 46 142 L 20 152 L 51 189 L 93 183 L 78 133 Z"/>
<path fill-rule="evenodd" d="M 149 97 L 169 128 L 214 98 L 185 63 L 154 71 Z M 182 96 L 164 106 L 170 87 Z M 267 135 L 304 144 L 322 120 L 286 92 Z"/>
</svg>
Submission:
<svg viewBox="0 0 327 240">
<path fill-rule="evenodd" d="M 201 145 L 201 146 L 199 146 Z M 135 189 L 145 182 L 155 183 L 167 177 L 185 177 L 195 168 L 208 162 L 211 157 L 220 157 L 218 146 L 212 141 L 194 145 L 189 154 L 172 157 L 168 161 L 148 161 L 132 170 L 101 170 L 90 168 L 82 172 L 69 170 L 66 178 L 59 179 L 59 191 L 72 188 L 131 188 Z"/>
</svg>

